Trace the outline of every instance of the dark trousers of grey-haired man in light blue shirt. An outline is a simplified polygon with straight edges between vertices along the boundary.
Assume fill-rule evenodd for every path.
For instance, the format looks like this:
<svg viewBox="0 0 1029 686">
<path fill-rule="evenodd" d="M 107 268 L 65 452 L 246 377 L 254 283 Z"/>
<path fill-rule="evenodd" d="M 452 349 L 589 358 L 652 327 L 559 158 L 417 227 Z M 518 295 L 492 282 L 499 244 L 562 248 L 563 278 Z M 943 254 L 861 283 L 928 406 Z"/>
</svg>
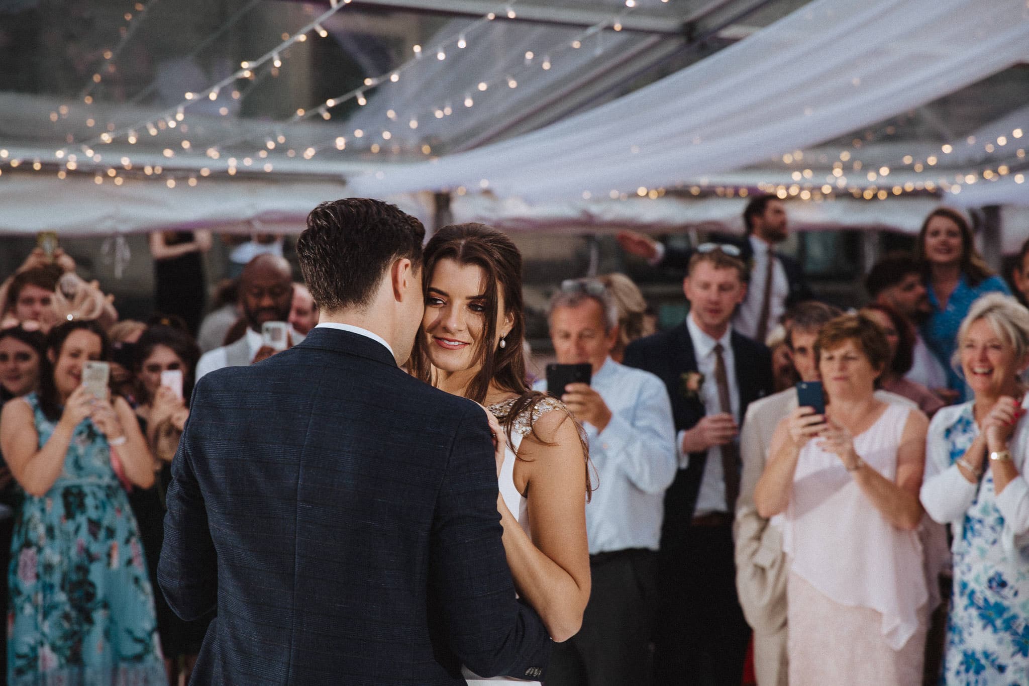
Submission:
<svg viewBox="0 0 1029 686">
<path fill-rule="evenodd" d="M 546 686 L 646 686 L 658 555 L 632 549 L 590 556 L 582 628 L 551 652 Z"/>
</svg>

